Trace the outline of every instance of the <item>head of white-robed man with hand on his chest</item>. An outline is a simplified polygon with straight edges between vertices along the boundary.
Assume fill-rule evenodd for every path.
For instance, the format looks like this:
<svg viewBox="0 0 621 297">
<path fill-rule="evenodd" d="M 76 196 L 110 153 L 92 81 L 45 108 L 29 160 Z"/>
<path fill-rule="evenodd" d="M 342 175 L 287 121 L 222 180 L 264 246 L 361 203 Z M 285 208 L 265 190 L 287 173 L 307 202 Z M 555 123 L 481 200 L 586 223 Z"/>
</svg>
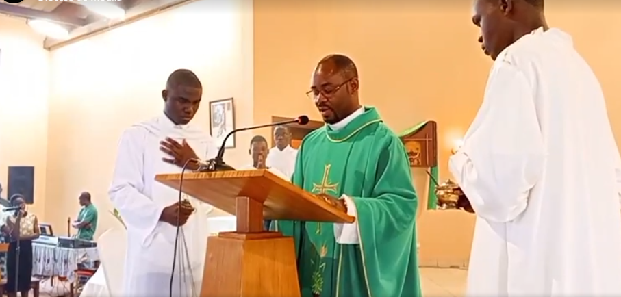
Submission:
<svg viewBox="0 0 621 297">
<path fill-rule="evenodd" d="M 176 125 L 186 125 L 199 110 L 202 96 L 203 85 L 197 75 L 188 69 L 175 70 L 162 90 L 164 113 Z"/>
</svg>

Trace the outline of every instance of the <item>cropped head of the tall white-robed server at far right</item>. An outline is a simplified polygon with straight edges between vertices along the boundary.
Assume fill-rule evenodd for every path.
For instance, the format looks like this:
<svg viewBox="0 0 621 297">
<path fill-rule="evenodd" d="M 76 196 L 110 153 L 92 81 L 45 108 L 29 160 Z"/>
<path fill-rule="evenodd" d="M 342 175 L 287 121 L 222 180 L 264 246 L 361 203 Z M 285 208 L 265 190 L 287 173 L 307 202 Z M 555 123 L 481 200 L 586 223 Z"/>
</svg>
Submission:
<svg viewBox="0 0 621 297">
<path fill-rule="evenodd" d="M 548 28 L 544 0 L 475 0 L 472 23 L 481 28 L 481 49 L 492 60 L 522 36 Z"/>
</svg>

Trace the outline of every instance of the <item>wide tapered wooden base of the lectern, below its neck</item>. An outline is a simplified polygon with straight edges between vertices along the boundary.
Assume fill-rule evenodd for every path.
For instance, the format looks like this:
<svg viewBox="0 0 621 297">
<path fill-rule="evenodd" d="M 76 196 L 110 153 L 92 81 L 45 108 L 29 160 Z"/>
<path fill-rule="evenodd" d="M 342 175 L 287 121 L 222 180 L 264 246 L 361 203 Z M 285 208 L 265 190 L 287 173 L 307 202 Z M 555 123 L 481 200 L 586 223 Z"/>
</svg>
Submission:
<svg viewBox="0 0 621 297">
<path fill-rule="evenodd" d="M 207 239 L 201 297 L 299 297 L 292 237 L 223 232 Z"/>
</svg>

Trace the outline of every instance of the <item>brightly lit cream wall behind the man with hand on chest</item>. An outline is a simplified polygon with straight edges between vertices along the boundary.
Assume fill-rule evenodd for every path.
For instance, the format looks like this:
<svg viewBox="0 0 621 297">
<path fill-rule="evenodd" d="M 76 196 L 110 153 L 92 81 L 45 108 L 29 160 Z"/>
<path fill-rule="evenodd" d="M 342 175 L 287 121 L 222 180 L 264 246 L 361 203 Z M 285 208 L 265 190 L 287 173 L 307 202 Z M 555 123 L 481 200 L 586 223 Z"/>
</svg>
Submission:
<svg viewBox="0 0 621 297">
<path fill-rule="evenodd" d="M 253 123 L 252 12 L 242 2 L 194 2 L 52 51 L 47 196 L 55 207 L 46 214 L 55 227 L 75 218 L 84 190 L 99 208 L 98 233 L 116 224 L 107 188 L 118 137 L 162 112 L 173 70 L 194 70 L 203 83 L 194 124 L 208 131 L 208 102 L 231 96 L 236 125 Z M 250 138 L 239 135 L 227 152 L 233 166 L 246 163 Z"/>
</svg>

